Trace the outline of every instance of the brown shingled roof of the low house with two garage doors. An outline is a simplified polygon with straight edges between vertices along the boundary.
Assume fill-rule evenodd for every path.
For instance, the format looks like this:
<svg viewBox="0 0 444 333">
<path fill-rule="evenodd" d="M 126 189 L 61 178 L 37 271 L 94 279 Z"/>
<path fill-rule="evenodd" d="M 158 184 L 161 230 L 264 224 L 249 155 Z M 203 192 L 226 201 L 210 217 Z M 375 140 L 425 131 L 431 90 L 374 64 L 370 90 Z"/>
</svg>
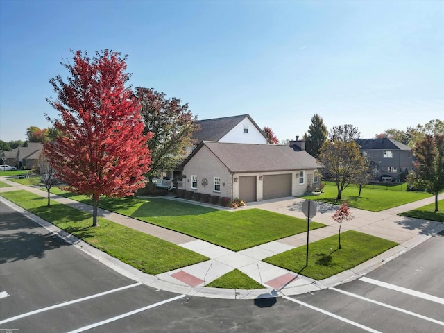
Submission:
<svg viewBox="0 0 444 333">
<path fill-rule="evenodd" d="M 194 149 L 181 167 L 206 146 L 221 160 L 225 167 L 234 172 L 266 172 L 318 169 L 316 159 L 307 151 L 298 151 L 291 146 L 274 144 L 231 144 L 203 141 Z"/>
</svg>

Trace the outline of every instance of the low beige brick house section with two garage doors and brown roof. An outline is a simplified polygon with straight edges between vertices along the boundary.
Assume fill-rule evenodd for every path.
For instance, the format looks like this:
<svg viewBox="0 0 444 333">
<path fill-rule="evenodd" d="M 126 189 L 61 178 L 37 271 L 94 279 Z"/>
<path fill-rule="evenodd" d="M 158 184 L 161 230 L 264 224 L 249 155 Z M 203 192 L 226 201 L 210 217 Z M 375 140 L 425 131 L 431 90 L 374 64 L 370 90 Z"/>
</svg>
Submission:
<svg viewBox="0 0 444 333">
<path fill-rule="evenodd" d="M 298 143 L 203 141 L 182 163 L 182 188 L 247 202 L 300 196 L 320 187 L 320 178 L 316 159 Z"/>
</svg>

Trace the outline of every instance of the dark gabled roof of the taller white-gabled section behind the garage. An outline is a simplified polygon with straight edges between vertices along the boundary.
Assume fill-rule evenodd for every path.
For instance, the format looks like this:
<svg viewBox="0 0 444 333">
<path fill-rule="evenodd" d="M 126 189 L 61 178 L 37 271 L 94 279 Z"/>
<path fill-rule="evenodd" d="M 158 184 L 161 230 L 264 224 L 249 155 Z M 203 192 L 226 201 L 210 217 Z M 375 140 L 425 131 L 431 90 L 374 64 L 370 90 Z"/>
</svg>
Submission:
<svg viewBox="0 0 444 333">
<path fill-rule="evenodd" d="M 200 125 L 200 129 L 193 133 L 193 139 L 196 139 L 197 144 L 203 141 L 217 142 L 246 118 L 264 135 L 263 131 L 257 126 L 257 123 L 255 123 L 249 114 L 241 114 L 239 116 L 199 120 L 198 124 Z M 265 135 L 264 137 L 266 138 Z"/>
</svg>

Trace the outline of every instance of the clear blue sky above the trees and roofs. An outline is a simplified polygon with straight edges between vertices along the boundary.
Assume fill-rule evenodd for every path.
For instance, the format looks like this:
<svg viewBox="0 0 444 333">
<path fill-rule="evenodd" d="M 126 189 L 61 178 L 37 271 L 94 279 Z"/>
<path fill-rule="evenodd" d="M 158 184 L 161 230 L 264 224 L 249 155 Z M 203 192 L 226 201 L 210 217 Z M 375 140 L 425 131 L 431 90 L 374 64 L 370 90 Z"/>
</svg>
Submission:
<svg viewBox="0 0 444 333">
<path fill-rule="evenodd" d="M 50 126 L 59 62 L 105 48 L 128 54 L 133 87 L 278 139 L 316 113 L 365 138 L 444 120 L 444 1 L 0 0 L 0 139 Z"/>
</svg>

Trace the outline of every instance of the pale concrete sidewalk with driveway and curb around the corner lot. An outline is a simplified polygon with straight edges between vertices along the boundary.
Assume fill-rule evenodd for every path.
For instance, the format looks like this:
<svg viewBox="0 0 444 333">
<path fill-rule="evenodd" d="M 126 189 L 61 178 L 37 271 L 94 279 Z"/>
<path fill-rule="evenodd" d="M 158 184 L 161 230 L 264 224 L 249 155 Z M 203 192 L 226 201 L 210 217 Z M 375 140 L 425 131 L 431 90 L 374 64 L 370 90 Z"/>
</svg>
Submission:
<svg viewBox="0 0 444 333">
<path fill-rule="evenodd" d="M 1 178 L 1 180 L 6 182 L 8 185 L 12 185 L 12 187 L 0 188 L 0 193 L 1 191 L 24 189 L 40 196 L 46 196 L 46 192 L 38 189 L 37 187 L 19 185 L 16 182 L 7 180 L 7 178 Z M 443 199 L 444 194 L 441 194 L 439 198 Z M 84 210 L 85 212 L 92 212 L 92 207 L 90 205 L 79 203 L 69 198 L 51 194 L 51 199 L 57 200 L 66 205 L 70 205 L 71 207 L 76 207 L 79 210 Z M 7 201 L 3 198 L 1 198 L 1 200 L 3 202 Z M 169 197 L 165 200 L 181 199 Z M 303 201 L 304 199 L 293 197 L 273 199 L 259 203 L 248 203 L 248 206 L 241 207 L 240 209 L 259 208 L 261 210 L 269 210 L 271 212 L 287 214 L 305 219 L 304 214 L 301 212 Z M 189 200 L 185 200 L 185 202 L 194 203 Z M 284 295 L 289 296 L 299 293 L 306 293 L 326 287 L 332 287 L 336 284 L 348 282 L 365 275 L 369 271 L 372 271 L 373 269 L 384 264 L 384 262 L 397 257 L 410 248 L 422 243 L 422 241 L 432 237 L 437 232 L 444 230 L 444 223 L 397 216 L 399 212 L 412 210 L 433 202 L 434 197 L 426 198 L 415 203 L 409 203 L 407 205 L 402 205 L 400 207 L 395 207 L 391 210 L 385 210 L 382 212 L 368 212 L 365 210 L 352 208 L 355 219 L 344 223 L 341 231 L 357 230 L 376 237 L 395 241 L 400 245 L 395 246 L 395 248 L 391 248 L 391 250 L 388 250 L 385 253 L 382 253 L 381 255 L 378 255 L 377 257 L 368 260 L 368 262 L 352 268 L 349 271 L 339 273 L 338 275 L 321 281 L 312 280 L 303 275 L 298 275 L 297 273 L 293 273 L 283 268 L 262 262 L 262 259 L 266 257 L 305 245 L 307 243 L 306 232 L 296 234 L 291 237 L 286 237 L 284 239 L 279 239 L 278 241 L 271 241 L 269 243 L 248 248 L 246 250 L 241 250 L 239 252 L 234 252 L 226 248 L 222 248 L 221 246 L 210 244 L 207 241 L 202 241 L 200 239 L 195 239 L 194 237 L 189 237 L 185 234 L 180 234 L 179 232 L 160 228 L 156 225 L 151 225 L 137 219 L 132 219 L 128 216 L 99 209 L 99 216 L 102 216 L 105 219 L 126 225 L 129 228 L 133 228 L 141 232 L 152 234 L 155 237 L 178 244 L 179 246 L 193 250 L 196 253 L 200 253 L 210 258 L 210 260 L 206 262 L 201 262 L 199 264 L 186 266 L 174 271 L 152 276 L 137 271 L 135 268 L 123 264 L 105 253 L 101 253 L 101 251 L 96 250 L 96 248 L 93 248 L 92 246 L 85 244 L 85 242 L 76 239 L 76 237 L 72 237 L 61 230 L 57 230 L 58 228 L 53 225 L 49 225 L 49 223 L 45 223 L 46 221 L 38 219 L 37 216 L 31 216 L 32 214 L 29 214 L 28 212 L 24 212 L 24 214 L 27 214 L 28 217 L 30 216 L 32 219 L 34 219 L 34 221 L 37 221 L 37 223 L 43 223 L 46 228 L 50 228 L 51 231 L 65 237 L 67 241 L 70 241 L 72 244 L 76 244 L 76 246 L 101 260 L 101 262 L 108 264 L 108 266 L 112 266 L 112 268 L 119 271 L 119 273 L 122 273 L 123 275 L 133 278 L 139 282 L 148 284 L 151 287 L 173 291 L 176 293 L 185 293 L 191 296 L 240 299 L 266 298 Z M 12 203 L 8 202 L 8 204 L 15 207 L 16 210 L 23 211 L 21 208 L 13 205 Z M 334 211 L 337 209 L 337 206 L 325 203 L 316 203 L 316 205 L 318 214 L 313 220 L 324 223 L 327 226 L 325 228 L 311 230 L 309 233 L 310 242 L 314 242 L 325 237 L 330 237 L 338 233 L 337 223 L 330 219 Z M 232 271 L 234 268 L 239 269 L 239 271 L 246 273 L 246 275 L 253 278 L 253 280 L 264 285 L 264 289 L 246 291 L 239 289 L 216 289 L 205 287 L 206 284 L 212 282 L 216 278 L 221 277 L 225 273 Z"/>
</svg>

